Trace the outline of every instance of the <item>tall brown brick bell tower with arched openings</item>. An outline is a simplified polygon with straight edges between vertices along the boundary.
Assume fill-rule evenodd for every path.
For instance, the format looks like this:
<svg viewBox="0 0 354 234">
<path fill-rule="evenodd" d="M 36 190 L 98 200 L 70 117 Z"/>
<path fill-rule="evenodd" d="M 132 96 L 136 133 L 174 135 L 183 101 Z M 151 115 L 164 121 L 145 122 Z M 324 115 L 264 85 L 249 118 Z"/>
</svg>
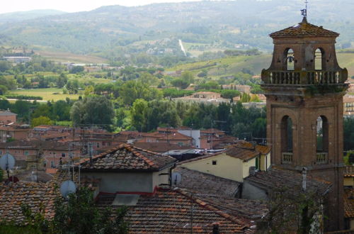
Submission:
<svg viewBox="0 0 354 234">
<path fill-rule="evenodd" d="M 262 71 L 272 165 L 332 183 L 326 230 L 343 229 L 343 95 L 347 69 L 339 67 L 338 33 L 301 23 L 271 33 L 273 60 Z"/>
</svg>

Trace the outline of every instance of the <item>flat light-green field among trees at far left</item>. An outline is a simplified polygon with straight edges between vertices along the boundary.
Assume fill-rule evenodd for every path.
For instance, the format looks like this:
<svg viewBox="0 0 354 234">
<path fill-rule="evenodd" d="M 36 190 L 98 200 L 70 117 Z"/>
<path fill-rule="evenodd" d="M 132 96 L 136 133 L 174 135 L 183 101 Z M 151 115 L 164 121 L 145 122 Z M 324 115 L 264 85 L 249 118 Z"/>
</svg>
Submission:
<svg viewBox="0 0 354 234">
<path fill-rule="evenodd" d="M 55 94 L 59 93 L 59 94 Z M 45 101 L 59 101 L 69 99 L 79 99 L 80 94 L 62 94 L 62 89 L 48 88 L 48 89 L 21 89 L 10 91 L 10 94 L 42 96 Z"/>
</svg>

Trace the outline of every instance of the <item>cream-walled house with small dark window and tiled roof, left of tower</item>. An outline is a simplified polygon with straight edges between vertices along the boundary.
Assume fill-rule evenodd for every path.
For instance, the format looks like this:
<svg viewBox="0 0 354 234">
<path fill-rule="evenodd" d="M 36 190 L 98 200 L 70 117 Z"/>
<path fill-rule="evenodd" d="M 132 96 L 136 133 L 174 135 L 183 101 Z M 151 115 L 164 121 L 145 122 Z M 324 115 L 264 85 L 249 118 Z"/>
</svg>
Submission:
<svg viewBox="0 0 354 234">
<path fill-rule="evenodd" d="M 180 165 L 198 172 L 244 182 L 250 171 L 266 171 L 270 167 L 270 147 L 242 141 L 222 152 L 186 160 Z"/>
</svg>

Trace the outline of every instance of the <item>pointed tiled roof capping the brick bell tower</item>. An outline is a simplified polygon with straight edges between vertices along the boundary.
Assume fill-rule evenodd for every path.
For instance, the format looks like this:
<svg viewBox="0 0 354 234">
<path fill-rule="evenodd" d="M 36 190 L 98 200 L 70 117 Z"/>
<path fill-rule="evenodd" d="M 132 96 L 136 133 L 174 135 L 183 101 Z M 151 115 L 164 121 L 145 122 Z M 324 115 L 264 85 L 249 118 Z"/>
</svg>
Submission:
<svg viewBox="0 0 354 234">
<path fill-rule="evenodd" d="M 285 28 L 274 33 L 270 33 L 271 38 L 282 37 L 338 37 L 339 33 L 322 28 L 322 26 L 315 26 L 307 22 L 304 17 L 301 23 L 296 26 Z"/>
</svg>

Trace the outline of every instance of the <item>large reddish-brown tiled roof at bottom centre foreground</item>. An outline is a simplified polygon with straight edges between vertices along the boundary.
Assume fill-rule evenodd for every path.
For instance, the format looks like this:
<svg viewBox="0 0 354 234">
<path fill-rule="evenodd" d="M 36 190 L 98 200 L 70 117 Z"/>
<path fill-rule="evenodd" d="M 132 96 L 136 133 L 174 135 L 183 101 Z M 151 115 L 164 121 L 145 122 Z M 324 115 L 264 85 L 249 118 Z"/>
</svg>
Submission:
<svg viewBox="0 0 354 234">
<path fill-rule="evenodd" d="M 107 199 L 104 204 L 110 206 Z M 212 233 L 215 223 L 220 233 L 244 233 L 250 226 L 249 220 L 229 215 L 181 189 L 157 189 L 152 196 L 140 196 L 126 219 L 130 233 L 190 233 L 192 219 L 193 231 L 199 233 Z"/>
</svg>

